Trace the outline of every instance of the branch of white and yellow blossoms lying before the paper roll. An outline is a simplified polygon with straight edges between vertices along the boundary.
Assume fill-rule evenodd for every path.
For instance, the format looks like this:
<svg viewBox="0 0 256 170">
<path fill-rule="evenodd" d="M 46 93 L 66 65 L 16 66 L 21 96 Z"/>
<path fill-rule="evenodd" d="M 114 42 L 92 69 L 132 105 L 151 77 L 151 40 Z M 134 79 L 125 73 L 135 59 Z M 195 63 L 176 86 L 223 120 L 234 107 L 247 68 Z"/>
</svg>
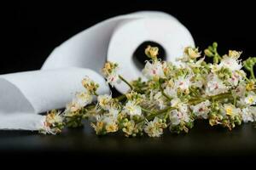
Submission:
<svg viewBox="0 0 256 170">
<path fill-rule="evenodd" d="M 242 65 L 241 52 L 220 55 L 217 48 L 213 42 L 203 56 L 199 48 L 185 48 L 178 58 L 182 65 L 177 66 L 158 59 L 159 48 L 148 46 L 144 82 L 142 78 L 127 81 L 119 74 L 119 65 L 108 61 L 102 75 L 112 87 L 125 82 L 128 92 L 116 98 L 98 94 L 99 85 L 84 77 L 84 91 L 75 95 L 65 111 L 50 111 L 40 132 L 61 133 L 64 127 L 83 126 L 84 119 L 97 135 L 122 132 L 125 137 L 160 137 L 167 127 L 172 133 L 188 133 L 201 119 L 229 130 L 241 122 L 256 122 L 256 58 Z M 206 57 L 212 62 L 207 63 Z"/>
</svg>

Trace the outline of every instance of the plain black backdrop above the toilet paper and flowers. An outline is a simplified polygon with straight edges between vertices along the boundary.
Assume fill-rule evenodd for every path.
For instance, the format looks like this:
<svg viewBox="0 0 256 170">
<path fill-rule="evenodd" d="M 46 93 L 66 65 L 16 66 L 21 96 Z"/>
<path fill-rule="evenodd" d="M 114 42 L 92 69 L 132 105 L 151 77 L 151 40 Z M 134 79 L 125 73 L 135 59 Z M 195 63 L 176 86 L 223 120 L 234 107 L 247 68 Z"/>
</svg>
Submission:
<svg viewBox="0 0 256 170">
<path fill-rule="evenodd" d="M 17 2 L 3 6 L 0 74 L 37 70 L 49 53 L 79 31 L 119 14 L 160 10 L 177 17 L 206 48 L 218 42 L 228 49 L 255 54 L 255 8 L 249 1 L 84 1 Z"/>
</svg>

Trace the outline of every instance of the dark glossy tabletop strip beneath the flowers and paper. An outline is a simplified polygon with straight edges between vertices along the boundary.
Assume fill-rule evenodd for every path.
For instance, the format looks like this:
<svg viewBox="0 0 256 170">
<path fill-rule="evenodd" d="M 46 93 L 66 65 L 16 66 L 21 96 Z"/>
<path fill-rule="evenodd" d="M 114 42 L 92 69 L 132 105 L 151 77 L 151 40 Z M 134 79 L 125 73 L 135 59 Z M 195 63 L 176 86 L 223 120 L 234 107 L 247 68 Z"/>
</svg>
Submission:
<svg viewBox="0 0 256 170">
<path fill-rule="evenodd" d="M 61 135 L 1 131 L 0 152 L 70 152 L 86 155 L 158 156 L 256 156 L 256 129 L 252 124 L 232 132 L 196 122 L 188 134 L 166 132 L 162 138 L 125 138 L 121 134 L 98 137 L 85 123 Z"/>
</svg>

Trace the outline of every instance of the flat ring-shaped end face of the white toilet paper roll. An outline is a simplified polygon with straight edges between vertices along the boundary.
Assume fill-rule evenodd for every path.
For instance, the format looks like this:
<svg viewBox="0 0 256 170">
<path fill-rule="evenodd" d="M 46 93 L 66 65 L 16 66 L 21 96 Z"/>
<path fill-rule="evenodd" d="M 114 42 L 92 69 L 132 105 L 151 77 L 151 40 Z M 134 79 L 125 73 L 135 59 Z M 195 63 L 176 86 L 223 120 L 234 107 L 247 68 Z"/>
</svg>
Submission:
<svg viewBox="0 0 256 170">
<path fill-rule="evenodd" d="M 119 64 L 119 73 L 127 80 L 143 77 L 142 70 L 132 59 L 137 47 L 145 41 L 159 43 L 166 51 L 166 60 L 175 62 L 187 46 L 194 46 L 189 31 L 179 24 L 166 19 L 131 20 L 122 23 L 114 31 L 108 44 L 108 60 Z M 129 87 L 121 82 L 115 86 L 121 93 Z"/>
</svg>

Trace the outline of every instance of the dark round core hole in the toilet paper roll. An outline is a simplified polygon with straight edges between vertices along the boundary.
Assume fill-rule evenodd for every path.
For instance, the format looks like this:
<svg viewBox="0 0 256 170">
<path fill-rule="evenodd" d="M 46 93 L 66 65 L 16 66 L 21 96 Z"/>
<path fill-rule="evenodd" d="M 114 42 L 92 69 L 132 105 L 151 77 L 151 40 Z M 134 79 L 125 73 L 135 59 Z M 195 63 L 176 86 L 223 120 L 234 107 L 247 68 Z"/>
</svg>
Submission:
<svg viewBox="0 0 256 170">
<path fill-rule="evenodd" d="M 145 41 L 137 47 L 137 49 L 135 50 L 135 52 L 133 53 L 133 56 L 132 56 L 133 63 L 136 65 L 136 67 L 139 71 L 143 70 L 145 61 L 149 59 L 148 56 L 145 54 L 145 48 L 147 48 L 148 45 L 150 45 L 152 47 L 158 47 L 159 48 L 158 58 L 161 60 L 166 60 L 165 48 L 163 48 L 157 42 Z"/>
</svg>

